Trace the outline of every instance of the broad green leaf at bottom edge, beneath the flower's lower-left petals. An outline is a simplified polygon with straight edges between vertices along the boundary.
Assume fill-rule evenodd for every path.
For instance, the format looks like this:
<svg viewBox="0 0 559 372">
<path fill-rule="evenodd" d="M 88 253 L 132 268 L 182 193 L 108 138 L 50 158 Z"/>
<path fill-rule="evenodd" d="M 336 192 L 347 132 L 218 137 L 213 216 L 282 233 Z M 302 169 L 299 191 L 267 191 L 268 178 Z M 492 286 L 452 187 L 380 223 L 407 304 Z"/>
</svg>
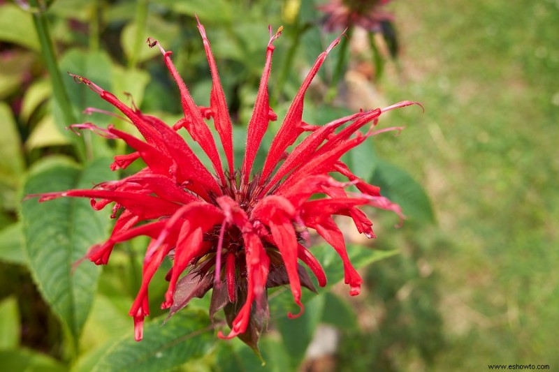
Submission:
<svg viewBox="0 0 559 372">
<path fill-rule="evenodd" d="M 203 357 L 216 338 L 208 314 L 180 311 L 165 325 L 160 317 L 144 327 L 143 340 L 133 333 L 113 338 L 78 361 L 73 371 L 168 371 Z"/>
</svg>

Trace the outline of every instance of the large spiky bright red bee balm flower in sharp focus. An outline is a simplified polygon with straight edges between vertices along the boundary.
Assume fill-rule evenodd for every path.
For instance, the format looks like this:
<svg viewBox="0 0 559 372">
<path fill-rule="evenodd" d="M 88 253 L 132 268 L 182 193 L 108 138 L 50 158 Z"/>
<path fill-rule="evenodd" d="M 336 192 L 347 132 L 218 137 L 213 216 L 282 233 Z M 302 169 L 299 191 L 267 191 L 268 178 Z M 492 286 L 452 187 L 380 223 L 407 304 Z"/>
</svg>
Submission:
<svg viewBox="0 0 559 372">
<path fill-rule="evenodd" d="M 351 295 L 358 295 L 362 280 L 349 262 L 344 237 L 332 216 L 349 216 L 359 232 L 374 237 L 372 223 L 359 207 L 372 205 L 398 214 L 400 208 L 383 198 L 379 188 L 356 177 L 340 161 L 340 156 L 376 133 L 398 129 L 372 131 L 383 112 L 412 103 L 405 101 L 382 110 L 358 112 L 324 126 L 303 122 L 305 91 L 326 54 L 340 41 L 338 37 L 315 61 L 275 135 L 263 170 L 254 172 L 252 165 L 268 122 L 276 119 L 268 105 L 268 76 L 273 41 L 281 29 L 276 34 L 270 29 L 266 65 L 248 124 L 246 154 L 240 170 L 235 170 L 231 119 L 224 91 L 210 43 L 199 23 L 198 29 L 212 73 L 210 107 L 196 106 L 170 59 L 171 52 L 164 51 L 157 41 L 148 40 L 151 47 L 159 46 L 164 54 L 182 98 L 184 119 L 173 128 L 157 117 L 143 114 L 137 107 L 124 105 L 85 77 L 73 75 L 77 82 L 87 84 L 117 107 L 138 128 L 145 141 L 114 126 L 104 129 L 87 123 L 72 127 L 124 140 L 136 150 L 115 156 L 112 170 L 124 169 L 138 158 L 147 167 L 120 181 L 98 184 L 91 190 L 29 196 L 39 196 L 41 202 L 61 197 L 91 198 L 92 207 L 97 210 L 115 203 L 112 218 L 117 220 L 110 238 L 90 248 L 87 254 L 96 265 L 105 265 L 112 248 L 119 242 L 138 235 L 151 238 L 145 253 L 142 285 L 129 312 L 134 319 L 136 340 L 142 338 L 143 320 L 150 313 L 148 284 L 168 256 L 173 260 L 173 267 L 166 277 L 169 285 L 161 308 L 170 308 L 170 315 L 173 315 L 193 297 L 202 297 L 213 289 L 210 317 L 224 309 L 231 327 L 229 334 L 219 332 L 219 337 L 239 336 L 255 346 L 268 320 L 267 288 L 289 283 L 293 299 L 303 313 L 301 286 L 311 290 L 314 287 L 299 262 L 312 271 L 319 285 L 326 285 L 320 263 L 305 246 L 308 228 L 316 230 L 340 255 L 345 283 L 349 284 Z M 226 170 L 205 122 L 210 117 L 224 148 Z M 363 126 L 370 127 L 364 135 L 358 131 Z M 185 128 L 198 142 L 210 159 L 212 170 L 203 166 L 177 134 L 180 128 Z M 303 133 L 306 137 L 288 154 L 286 150 Z M 348 181 L 335 181 L 328 175 L 331 172 L 342 174 Z M 344 188 L 350 184 L 360 192 L 347 193 Z M 326 196 L 310 200 L 315 193 Z"/>
</svg>

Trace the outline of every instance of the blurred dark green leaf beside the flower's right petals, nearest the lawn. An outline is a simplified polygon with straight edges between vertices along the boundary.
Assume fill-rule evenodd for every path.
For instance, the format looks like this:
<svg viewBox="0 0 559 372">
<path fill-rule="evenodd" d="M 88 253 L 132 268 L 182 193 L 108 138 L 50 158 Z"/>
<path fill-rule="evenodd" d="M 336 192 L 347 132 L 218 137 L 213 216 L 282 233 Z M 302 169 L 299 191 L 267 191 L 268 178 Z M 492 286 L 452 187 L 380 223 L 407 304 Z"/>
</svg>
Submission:
<svg viewBox="0 0 559 372">
<path fill-rule="evenodd" d="M 405 170 L 379 160 L 372 184 L 381 188 L 383 196 L 400 204 L 410 219 L 435 222 L 435 214 L 425 190 Z"/>
</svg>

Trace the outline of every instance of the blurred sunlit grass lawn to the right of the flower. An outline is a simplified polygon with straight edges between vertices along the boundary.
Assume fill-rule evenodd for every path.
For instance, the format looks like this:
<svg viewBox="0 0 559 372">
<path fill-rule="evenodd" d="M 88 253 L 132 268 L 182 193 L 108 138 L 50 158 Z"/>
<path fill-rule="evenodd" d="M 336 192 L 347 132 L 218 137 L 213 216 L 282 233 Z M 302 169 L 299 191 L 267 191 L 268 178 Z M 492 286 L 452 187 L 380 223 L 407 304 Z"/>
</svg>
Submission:
<svg viewBox="0 0 559 372">
<path fill-rule="evenodd" d="M 402 73 L 386 75 L 397 138 L 378 141 L 430 194 L 415 229 L 433 268 L 444 347 L 436 370 L 559 365 L 559 3 L 395 1 Z M 418 263 L 419 262 L 419 263 Z M 421 271 L 421 270 L 420 270 Z M 429 306 L 430 306 L 429 305 Z M 427 340 L 426 340 L 427 341 Z M 421 342 L 419 342 L 421 343 Z M 413 352 L 404 357 L 414 370 Z"/>
</svg>

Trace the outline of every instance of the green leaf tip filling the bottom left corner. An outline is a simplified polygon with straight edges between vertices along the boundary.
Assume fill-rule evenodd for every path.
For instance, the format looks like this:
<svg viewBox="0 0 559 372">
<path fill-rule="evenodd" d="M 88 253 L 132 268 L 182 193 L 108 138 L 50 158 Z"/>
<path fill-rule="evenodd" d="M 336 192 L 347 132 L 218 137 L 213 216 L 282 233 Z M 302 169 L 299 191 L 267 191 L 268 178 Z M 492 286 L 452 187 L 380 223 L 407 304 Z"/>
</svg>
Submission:
<svg viewBox="0 0 559 372">
<path fill-rule="evenodd" d="M 0 350 L 2 371 L 62 372 L 66 367 L 48 355 L 29 349 Z"/>
</svg>

